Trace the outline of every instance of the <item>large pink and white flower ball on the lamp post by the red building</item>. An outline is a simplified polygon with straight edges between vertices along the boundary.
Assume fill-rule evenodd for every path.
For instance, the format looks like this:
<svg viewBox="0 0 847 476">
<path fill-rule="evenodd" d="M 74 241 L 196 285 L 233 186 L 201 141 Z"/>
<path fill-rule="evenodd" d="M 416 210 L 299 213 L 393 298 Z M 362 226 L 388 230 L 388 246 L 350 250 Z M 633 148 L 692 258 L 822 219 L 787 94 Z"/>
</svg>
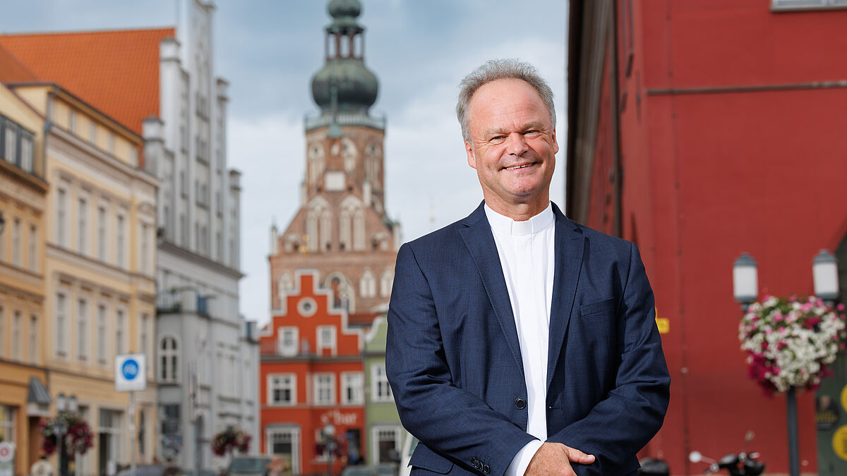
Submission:
<svg viewBox="0 0 847 476">
<path fill-rule="evenodd" d="M 817 390 L 845 338 L 844 304 L 833 309 L 815 296 L 764 296 L 739 324 L 748 375 L 767 396 L 792 387 Z"/>
</svg>

